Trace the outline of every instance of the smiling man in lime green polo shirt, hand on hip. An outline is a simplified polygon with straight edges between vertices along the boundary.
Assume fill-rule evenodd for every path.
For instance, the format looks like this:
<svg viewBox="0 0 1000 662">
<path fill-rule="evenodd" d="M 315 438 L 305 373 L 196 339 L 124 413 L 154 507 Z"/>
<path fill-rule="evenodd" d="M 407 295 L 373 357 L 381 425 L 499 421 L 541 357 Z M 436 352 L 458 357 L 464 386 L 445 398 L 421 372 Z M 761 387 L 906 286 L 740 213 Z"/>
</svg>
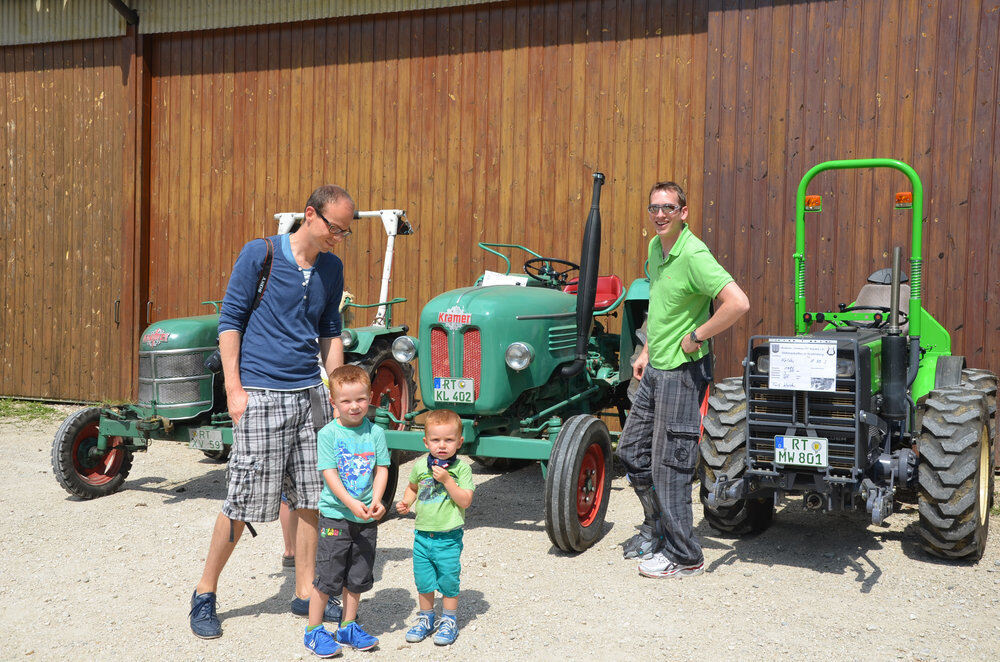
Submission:
<svg viewBox="0 0 1000 662">
<path fill-rule="evenodd" d="M 691 512 L 699 407 L 712 378 L 705 341 L 750 304 L 685 223 L 687 198 L 679 185 L 654 185 L 647 211 L 656 232 L 649 242 L 648 338 L 632 367 L 639 388 L 617 449 L 645 516 L 624 553 L 643 559 L 645 577 L 685 577 L 705 565 Z M 710 314 L 713 299 L 718 306 Z"/>
</svg>

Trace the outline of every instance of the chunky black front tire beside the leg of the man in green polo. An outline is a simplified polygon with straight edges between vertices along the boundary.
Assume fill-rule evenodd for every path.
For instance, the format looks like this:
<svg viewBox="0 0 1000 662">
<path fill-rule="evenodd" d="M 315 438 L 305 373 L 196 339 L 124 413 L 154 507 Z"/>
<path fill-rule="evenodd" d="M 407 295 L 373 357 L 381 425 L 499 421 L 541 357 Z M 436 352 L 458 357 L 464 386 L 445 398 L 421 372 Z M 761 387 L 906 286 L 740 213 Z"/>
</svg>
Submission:
<svg viewBox="0 0 1000 662">
<path fill-rule="evenodd" d="M 702 419 L 705 432 L 698 445 L 698 479 L 705 520 L 721 533 L 741 535 L 760 533 L 774 520 L 774 500 L 740 499 L 730 506 L 713 508 L 708 495 L 715 489 L 717 477 L 725 474 L 738 480 L 747 468 L 747 397 L 743 380 L 730 377 L 717 383 L 708 398 L 708 411 Z"/>
</svg>

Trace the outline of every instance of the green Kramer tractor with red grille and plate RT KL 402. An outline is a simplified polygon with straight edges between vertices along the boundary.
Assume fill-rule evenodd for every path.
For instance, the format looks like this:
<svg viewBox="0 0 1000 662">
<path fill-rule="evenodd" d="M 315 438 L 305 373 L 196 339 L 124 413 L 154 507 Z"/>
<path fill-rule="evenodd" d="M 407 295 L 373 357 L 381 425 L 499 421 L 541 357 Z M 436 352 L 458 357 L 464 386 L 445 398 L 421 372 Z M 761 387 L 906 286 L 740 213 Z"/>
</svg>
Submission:
<svg viewBox="0 0 1000 662">
<path fill-rule="evenodd" d="M 419 340 L 393 343 L 401 362 L 419 357 L 426 409 L 400 420 L 379 408 L 375 419 L 388 427 L 452 409 L 464 426 L 462 453 L 541 462 L 546 531 L 566 551 L 583 551 L 603 533 L 612 435 L 600 414 L 624 418 L 627 359 L 649 304 L 646 279 L 625 291 L 617 276 L 597 275 L 603 182 L 594 175 L 579 265 L 517 244 L 479 244 L 506 272 L 434 297 L 421 312 Z M 527 253 L 526 275 L 511 274 L 510 259 L 496 249 Z M 620 334 L 600 321 L 611 314 L 621 315 Z M 419 426 L 386 432 L 399 450 L 425 451 L 422 437 Z"/>
</svg>

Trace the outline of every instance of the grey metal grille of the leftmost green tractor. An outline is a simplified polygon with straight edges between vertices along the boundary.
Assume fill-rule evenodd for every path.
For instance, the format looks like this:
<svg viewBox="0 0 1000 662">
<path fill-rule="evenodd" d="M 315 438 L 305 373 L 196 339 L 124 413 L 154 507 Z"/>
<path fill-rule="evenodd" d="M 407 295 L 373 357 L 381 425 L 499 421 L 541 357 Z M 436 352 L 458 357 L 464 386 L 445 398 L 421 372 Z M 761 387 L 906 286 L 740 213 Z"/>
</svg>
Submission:
<svg viewBox="0 0 1000 662">
<path fill-rule="evenodd" d="M 181 408 L 193 407 L 195 414 L 211 409 L 214 375 L 205 368 L 205 357 L 214 349 L 140 352 L 139 404 L 155 404 L 167 415 L 180 413 Z M 188 413 L 180 415 L 187 417 Z"/>
</svg>

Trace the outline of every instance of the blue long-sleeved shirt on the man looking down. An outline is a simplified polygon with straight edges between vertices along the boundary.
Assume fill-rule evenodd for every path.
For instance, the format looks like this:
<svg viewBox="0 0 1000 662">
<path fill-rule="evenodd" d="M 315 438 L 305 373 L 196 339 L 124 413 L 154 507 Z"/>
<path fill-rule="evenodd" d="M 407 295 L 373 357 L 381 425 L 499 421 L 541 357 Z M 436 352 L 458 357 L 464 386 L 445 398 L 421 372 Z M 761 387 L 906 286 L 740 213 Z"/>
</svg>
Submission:
<svg viewBox="0 0 1000 662">
<path fill-rule="evenodd" d="M 311 269 L 292 255 L 289 235 L 274 243 L 271 275 L 264 297 L 251 315 L 267 243 L 255 239 L 240 251 L 219 311 L 219 332 L 243 331 L 240 381 L 244 388 L 293 391 L 321 383 L 318 338 L 340 335 L 340 297 L 344 265 L 333 253 L 320 253 Z M 249 319 L 249 321 L 247 321 Z"/>
</svg>

